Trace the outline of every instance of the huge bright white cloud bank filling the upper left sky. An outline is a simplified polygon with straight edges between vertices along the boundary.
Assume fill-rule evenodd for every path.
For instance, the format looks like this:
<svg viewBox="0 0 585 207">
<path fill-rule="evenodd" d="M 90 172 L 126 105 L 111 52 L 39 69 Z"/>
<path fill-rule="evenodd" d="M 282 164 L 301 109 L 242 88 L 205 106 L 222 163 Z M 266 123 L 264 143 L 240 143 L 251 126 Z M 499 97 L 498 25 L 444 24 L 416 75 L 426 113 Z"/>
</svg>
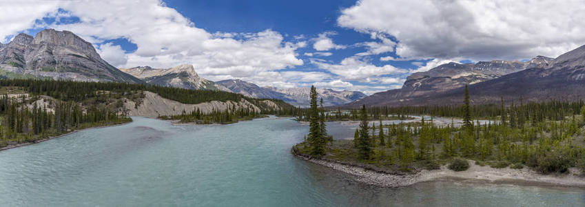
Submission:
<svg viewBox="0 0 585 207">
<path fill-rule="evenodd" d="M 125 64 L 122 57 L 112 56 L 120 52 L 119 48 L 111 44 L 101 48 L 104 58 L 125 68 L 144 65 L 169 68 L 192 63 L 201 75 L 254 77 L 260 72 L 302 65 L 295 50 L 307 46 L 304 41 L 285 42 L 283 35 L 273 30 L 211 34 L 158 0 L 3 3 L 0 38 L 31 28 L 37 19 L 57 17 L 59 8 L 80 21 L 48 27 L 70 30 L 96 45 L 119 38 L 135 43 L 137 49 L 125 55 Z"/>
</svg>

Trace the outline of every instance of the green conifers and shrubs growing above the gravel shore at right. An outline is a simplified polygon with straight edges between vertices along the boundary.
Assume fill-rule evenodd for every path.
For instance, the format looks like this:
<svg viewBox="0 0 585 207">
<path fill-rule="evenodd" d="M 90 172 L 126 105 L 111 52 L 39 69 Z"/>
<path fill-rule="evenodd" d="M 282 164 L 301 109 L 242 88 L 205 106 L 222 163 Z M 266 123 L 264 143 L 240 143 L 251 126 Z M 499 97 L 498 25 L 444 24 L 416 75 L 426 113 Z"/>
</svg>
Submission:
<svg viewBox="0 0 585 207">
<path fill-rule="evenodd" d="M 564 173 L 571 167 L 585 172 L 583 101 L 524 103 L 518 97 L 502 99 L 500 106 L 471 106 L 470 97 L 473 95 L 465 90 L 460 106 L 362 106 L 353 141 L 311 142 L 311 128 L 309 139 L 292 152 L 387 172 L 438 169 L 443 164 L 465 170 L 468 160 L 494 168 L 527 167 L 544 174 Z M 380 111 L 381 116 L 386 116 L 385 111 L 388 115 L 427 116 L 399 124 L 382 124 L 381 118 L 372 121 Z M 433 117 L 453 117 L 461 124 L 439 125 Z M 325 152 L 312 150 L 316 146 Z"/>
</svg>

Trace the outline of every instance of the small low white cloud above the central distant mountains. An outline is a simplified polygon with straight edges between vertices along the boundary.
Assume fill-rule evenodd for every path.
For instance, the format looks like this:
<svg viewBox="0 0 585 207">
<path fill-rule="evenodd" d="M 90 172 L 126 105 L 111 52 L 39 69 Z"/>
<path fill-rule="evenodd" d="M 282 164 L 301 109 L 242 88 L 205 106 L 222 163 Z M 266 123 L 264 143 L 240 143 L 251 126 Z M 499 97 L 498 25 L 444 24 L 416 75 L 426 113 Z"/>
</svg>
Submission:
<svg viewBox="0 0 585 207">
<path fill-rule="evenodd" d="M 311 63 L 321 69 L 339 75 L 344 80 L 370 82 L 371 77 L 380 77 L 381 75 L 400 75 L 408 72 L 407 70 L 395 68 L 391 65 L 375 66 L 359 57 L 347 57 L 339 64 L 327 63 L 317 59 L 311 59 Z"/>
</svg>

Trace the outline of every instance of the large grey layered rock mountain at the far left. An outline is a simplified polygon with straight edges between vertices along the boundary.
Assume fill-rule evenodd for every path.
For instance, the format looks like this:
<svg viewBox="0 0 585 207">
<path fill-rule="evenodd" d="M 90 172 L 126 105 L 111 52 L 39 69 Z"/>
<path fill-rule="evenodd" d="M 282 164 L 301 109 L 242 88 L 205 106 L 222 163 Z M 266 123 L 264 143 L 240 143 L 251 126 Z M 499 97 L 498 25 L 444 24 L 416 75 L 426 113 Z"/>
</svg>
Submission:
<svg viewBox="0 0 585 207">
<path fill-rule="evenodd" d="M 0 46 L 1 77 L 47 77 L 75 81 L 142 83 L 101 59 L 91 43 L 70 31 L 18 34 Z"/>
</svg>

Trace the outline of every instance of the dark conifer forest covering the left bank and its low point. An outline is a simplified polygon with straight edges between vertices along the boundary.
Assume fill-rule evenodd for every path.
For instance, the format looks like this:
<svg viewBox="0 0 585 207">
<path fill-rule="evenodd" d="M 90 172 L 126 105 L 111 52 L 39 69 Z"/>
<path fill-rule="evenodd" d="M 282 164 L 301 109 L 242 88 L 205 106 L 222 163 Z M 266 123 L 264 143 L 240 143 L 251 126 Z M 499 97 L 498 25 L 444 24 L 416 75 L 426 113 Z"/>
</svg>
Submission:
<svg viewBox="0 0 585 207">
<path fill-rule="evenodd" d="M 252 99 L 231 92 L 188 90 L 134 83 L 53 81 L 39 79 L 0 79 L 0 148 L 37 142 L 73 130 L 132 121 L 121 107 L 123 99 L 139 103 L 143 91 L 181 103 L 240 101 L 245 99 L 258 110 L 231 108 L 165 119 L 200 124 L 229 124 L 263 115 L 294 115 L 298 110 L 280 100 Z M 270 100 L 278 109 L 267 106 Z"/>
</svg>

